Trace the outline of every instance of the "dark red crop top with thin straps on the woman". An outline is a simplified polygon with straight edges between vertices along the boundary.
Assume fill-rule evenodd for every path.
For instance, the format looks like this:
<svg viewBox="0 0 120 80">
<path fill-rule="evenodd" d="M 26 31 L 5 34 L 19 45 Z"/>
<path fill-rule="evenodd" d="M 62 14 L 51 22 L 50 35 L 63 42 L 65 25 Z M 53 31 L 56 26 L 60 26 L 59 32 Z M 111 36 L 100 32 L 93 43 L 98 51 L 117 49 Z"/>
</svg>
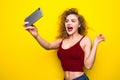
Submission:
<svg viewBox="0 0 120 80">
<path fill-rule="evenodd" d="M 57 55 L 61 61 L 64 71 L 80 71 L 83 72 L 84 66 L 84 51 L 80 46 L 80 41 L 84 36 L 72 47 L 68 49 L 62 48 L 62 42 L 58 49 Z"/>
</svg>

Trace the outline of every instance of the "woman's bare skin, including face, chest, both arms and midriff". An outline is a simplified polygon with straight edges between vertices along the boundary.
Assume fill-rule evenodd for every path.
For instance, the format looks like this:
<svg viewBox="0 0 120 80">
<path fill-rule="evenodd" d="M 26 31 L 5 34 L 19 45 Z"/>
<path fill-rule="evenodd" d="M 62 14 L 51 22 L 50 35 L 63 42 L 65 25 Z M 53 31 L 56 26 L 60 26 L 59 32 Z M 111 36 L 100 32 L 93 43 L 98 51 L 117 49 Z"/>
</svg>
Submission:
<svg viewBox="0 0 120 80">
<path fill-rule="evenodd" d="M 46 50 L 52 50 L 52 49 L 58 49 L 60 46 L 61 41 L 63 40 L 62 43 L 62 48 L 63 49 L 68 49 L 71 46 L 73 46 L 75 43 L 77 43 L 82 35 L 78 33 L 78 28 L 80 27 L 80 24 L 78 22 L 77 16 L 74 14 L 70 14 L 66 18 L 65 22 L 65 27 L 66 31 L 69 35 L 69 38 L 67 39 L 57 39 L 53 42 L 47 42 L 45 41 L 37 31 L 37 28 L 35 26 L 28 26 L 26 27 L 26 24 L 28 22 L 24 23 L 25 29 L 36 39 L 36 41 Z M 72 27 L 72 29 L 68 29 L 69 27 Z M 102 34 L 98 35 L 95 37 L 94 42 L 92 44 L 90 38 L 85 36 L 82 41 L 80 42 L 80 46 L 82 47 L 84 53 L 85 53 L 85 58 L 84 58 L 84 66 L 86 69 L 91 69 L 95 57 L 96 57 L 96 50 L 97 46 L 100 42 L 104 41 L 105 38 Z M 65 71 L 65 78 L 66 80 L 72 80 L 76 77 L 79 77 L 83 74 L 84 72 L 72 72 L 72 71 Z"/>
</svg>

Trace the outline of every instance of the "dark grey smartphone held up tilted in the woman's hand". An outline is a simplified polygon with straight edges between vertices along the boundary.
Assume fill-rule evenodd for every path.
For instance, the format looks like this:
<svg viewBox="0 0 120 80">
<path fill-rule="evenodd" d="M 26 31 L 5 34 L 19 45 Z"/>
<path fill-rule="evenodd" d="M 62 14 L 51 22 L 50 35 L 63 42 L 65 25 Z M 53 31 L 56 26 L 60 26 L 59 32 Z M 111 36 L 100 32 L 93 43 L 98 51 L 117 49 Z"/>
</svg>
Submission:
<svg viewBox="0 0 120 80">
<path fill-rule="evenodd" d="M 27 26 L 33 25 L 37 20 L 39 20 L 43 16 L 40 8 L 36 9 L 32 14 L 30 14 L 27 18 L 25 18 L 25 22 L 29 22 Z"/>
</svg>

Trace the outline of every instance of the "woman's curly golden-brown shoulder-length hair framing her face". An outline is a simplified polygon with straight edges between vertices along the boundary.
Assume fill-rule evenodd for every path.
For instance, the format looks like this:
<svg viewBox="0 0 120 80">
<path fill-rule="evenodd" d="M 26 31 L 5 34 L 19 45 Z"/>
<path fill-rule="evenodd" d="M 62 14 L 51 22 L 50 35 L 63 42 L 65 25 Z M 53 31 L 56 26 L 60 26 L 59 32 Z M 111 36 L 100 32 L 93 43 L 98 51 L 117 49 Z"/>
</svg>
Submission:
<svg viewBox="0 0 120 80">
<path fill-rule="evenodd" d="M 87 34 L 87 26 L 86 26 L 84 17 L 78 13 L 78 10 L 76 8 L 71 8 L 71 9 L 65 10 L 62 13 L 62 15 L 60 16 L 59 35 L 57 38 L 65 39 L 65 38 L 69 37 L 69 35 L 67 34 L 66 29 L 65 29 L 65 20 L 66 20 L 66 17 L 70 14 L 77 15 L 78 21 L 81 24 L 81 26 L 78 28 L 78 33 L 81 35 Z"/>
</svg>

